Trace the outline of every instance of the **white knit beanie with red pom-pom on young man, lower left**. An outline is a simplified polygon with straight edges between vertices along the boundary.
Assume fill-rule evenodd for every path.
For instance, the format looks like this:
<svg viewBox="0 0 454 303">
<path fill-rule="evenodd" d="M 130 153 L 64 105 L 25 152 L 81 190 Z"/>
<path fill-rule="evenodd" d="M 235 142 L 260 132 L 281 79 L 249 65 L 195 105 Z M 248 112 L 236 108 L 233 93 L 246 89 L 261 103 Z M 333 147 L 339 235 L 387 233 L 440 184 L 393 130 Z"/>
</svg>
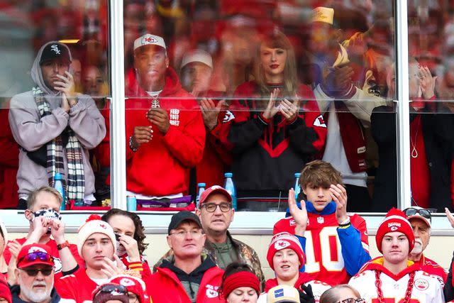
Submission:
<svg viewBox="0 0 454 303">
<path fill-rule="evenodd" d="M 82 255 L 82 246 L 84 246 L 87 238 L 92 236 L 93 233 L 104 233 L 111 239 L 114 251 L 116 250 L 114 229 L 107 222 L 102 221 L 100 216 L 92 214 L 88 217 L 87 221 L 85 221 L 84 225 L 79 227 L 79 231 L 77 233 L 77 251 L 82 258 L 84 258 Z"/>
</svg>

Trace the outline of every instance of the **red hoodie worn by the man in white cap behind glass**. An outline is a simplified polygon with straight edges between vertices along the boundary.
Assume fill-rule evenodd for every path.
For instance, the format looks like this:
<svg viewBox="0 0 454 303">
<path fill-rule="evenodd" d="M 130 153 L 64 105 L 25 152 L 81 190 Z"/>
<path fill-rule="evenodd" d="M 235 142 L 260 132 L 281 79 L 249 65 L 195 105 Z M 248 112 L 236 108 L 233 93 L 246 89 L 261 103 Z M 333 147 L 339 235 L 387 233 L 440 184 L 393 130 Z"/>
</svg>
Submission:
<svg viewBox="0 0 454 303">
<path fill-rule="evenodd" d="M 128 74 L 126 87 L 126 188 L 148 196 L 178 194 L 188 188 L 189 169 L 200 162 L 204 152 L 205 128 L 199 105 L 182 89 L 177 74 L 167 68 L 165 87 L 157 98 L 170 119 L 169 131 L 162 136 L 146 119 L 153 100 Z M 109 121 L 106 120 L 106 125 Z M 140 145 L 137 152 L 129 148 L 135 126 L 152 126 L 153 138 Z M 108 135 L 109 136 L 109 133 Z M 101 143 L 100 158 L 109 159 L 109 138 Z M 109 178 L 107 179 L 109 182 Z"/>
</svg>

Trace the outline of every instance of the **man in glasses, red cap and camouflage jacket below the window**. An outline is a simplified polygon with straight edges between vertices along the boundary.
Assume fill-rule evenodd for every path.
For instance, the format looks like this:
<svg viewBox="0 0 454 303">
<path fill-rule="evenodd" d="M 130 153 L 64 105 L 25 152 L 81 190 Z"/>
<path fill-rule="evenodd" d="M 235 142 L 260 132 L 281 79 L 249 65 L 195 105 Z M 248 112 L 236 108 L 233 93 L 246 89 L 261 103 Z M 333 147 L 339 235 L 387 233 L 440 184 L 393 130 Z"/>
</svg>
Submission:
<svg viewBox="0 0 454 303">
<path fill-rule="evenodd" d="M 216 265 L 222 269 L 233 262 L 250 265 L 263 287 L 265 277 L 257 253 L 247 244 L 232 238 L 228 232 L 234 214 L 232 197 L 223 187 L 214 185 L 201 194 L 196 215 L 199 216 L 206 235 L 203 253 L 209 255 L 211 260 L 214 260 Z M 172 250 L 169 250 L 156 263 L 153 270 L 160 266 L 162 260 L 170 260 L 170 258 L 172 258 Z"/>
</svg>

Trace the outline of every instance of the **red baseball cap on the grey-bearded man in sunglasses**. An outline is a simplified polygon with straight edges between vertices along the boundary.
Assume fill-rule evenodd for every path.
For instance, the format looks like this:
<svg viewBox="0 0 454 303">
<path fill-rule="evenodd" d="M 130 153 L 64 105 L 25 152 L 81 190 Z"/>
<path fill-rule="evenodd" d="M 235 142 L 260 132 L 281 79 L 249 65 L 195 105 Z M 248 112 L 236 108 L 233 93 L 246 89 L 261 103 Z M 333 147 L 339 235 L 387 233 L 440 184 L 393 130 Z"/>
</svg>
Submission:
<svg viewBox="0 0 454 303">
<path fill-rule="evenodd" d="M 18 268 L 28 268 L 32 265 L 43 264 L 54 266 L 54 257 L 50 255 L 50 247 L 44 244 L 28 244 L 21 248 L 17 257 Z"/>
</svg>

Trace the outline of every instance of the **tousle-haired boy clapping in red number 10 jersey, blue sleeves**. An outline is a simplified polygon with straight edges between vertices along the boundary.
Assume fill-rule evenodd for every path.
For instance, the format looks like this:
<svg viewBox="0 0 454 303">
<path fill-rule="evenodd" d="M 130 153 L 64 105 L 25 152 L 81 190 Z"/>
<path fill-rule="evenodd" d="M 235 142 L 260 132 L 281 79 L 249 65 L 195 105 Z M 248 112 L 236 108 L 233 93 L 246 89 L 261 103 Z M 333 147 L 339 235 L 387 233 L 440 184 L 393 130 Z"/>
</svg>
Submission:
<svg viewBox="0 0 454 303">
<path fill-rule="evenodd" d="M 365 220 L 347 214 L 341 173 L 328 162 L 309 162 L 301 171 L 299 184 L 306 201 L 301 200 L 301 205 L 295 207 L 294 191 L 290 189 L 290 210 L 275 224 L 273 233 L 295 234 L 298 227 L 306 253 L 305 272 L 332 286 L 346 283 L 370 260 Z"/>
</svg>

